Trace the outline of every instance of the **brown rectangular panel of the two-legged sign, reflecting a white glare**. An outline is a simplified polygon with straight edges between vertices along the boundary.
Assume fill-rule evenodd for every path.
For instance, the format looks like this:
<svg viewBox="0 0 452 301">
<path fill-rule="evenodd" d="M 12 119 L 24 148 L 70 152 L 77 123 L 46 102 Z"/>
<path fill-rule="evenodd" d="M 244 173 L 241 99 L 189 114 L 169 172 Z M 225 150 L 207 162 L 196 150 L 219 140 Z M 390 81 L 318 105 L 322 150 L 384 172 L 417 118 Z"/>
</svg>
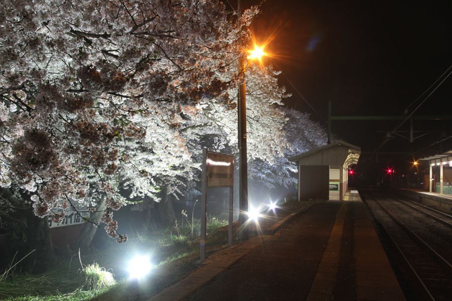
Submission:
<svg viewBox="0 0 452 301">
<path fill-rule="evenodd" d="M 234 157 L 207 152 L 207 187 L 234 186 Z"/>
</svg>

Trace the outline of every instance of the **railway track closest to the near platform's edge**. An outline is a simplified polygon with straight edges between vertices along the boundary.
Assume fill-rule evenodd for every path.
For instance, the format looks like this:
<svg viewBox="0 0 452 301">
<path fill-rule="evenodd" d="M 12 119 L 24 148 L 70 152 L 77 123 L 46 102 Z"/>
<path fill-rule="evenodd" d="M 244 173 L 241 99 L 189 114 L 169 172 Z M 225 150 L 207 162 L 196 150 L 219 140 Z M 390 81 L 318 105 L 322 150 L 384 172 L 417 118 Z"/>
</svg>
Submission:
<svg viewBox="0 0 452 301">
<path fill-rule="evenodd" d="M 452 265 L 373 195 L 363 199 L 430 300 L 450 300 Z"/>
</svg>

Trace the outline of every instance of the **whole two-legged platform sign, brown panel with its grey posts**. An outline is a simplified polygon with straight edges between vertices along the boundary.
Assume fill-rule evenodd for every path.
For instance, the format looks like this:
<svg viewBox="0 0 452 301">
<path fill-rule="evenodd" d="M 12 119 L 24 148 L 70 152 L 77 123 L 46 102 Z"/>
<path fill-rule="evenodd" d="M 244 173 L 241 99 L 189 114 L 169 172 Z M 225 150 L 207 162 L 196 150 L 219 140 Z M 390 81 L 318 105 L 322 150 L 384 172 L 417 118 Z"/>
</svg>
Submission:
<svg viewBox="0 0 452 301">
<path fill-rule="evenodd" d="M 201 174 L 201 262 L 205 260 L 207 188 L 229 187 L 228 244 L 232 245 L 234 218 L 234 156 L 202 149 Z"/>
</svg>

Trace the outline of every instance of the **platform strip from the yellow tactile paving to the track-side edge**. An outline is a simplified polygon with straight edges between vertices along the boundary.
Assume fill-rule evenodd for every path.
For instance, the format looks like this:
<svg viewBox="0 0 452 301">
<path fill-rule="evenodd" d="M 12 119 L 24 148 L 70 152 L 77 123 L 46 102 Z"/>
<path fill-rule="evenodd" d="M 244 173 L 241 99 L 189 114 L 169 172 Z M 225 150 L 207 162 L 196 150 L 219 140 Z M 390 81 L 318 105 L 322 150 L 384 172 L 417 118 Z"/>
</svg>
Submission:
<svg viewBox="0 0 452 301">
<path fill-rule="evenodd" d="M 306 300 L 404 300 L 405 297 L 358 192 L 336 215 Z"/>
</svg>

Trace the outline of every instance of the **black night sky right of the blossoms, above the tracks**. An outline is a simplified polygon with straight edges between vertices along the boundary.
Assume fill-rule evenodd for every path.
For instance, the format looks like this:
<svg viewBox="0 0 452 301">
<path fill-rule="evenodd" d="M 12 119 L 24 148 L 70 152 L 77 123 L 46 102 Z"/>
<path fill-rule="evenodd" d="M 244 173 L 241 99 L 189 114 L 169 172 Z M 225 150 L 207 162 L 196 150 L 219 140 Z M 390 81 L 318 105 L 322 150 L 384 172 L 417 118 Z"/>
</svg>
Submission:
<svg viewBox="0 0 452 301">
<path fill-rule="evenodd" d="M 229 3 L 237 8 L 237 0 Z M 242 0 L 242 7 L 259 3 Z M 266 64 L 282 70 L 280 82 L 293 94 L 286 104 L 310 112 L 325 126 L 328 100 L 333 115 L 401 115 L 452 64 L 450 1 L 267 0 L 261 10 L 252 30 L 258 41 L 274 33 L 267 50 L 278 57 L 267 59 Z M 419 103 L 409 107 L 409 112 Z M 451 104 L 452 75 L 415 115 L 452 115 Z M 395 126 L 396 121 L 333 121 L 332 131 L 366 152 L 383 141 L 384 133 L 377 131 L 391 131 Z M 408 122 L 400 129 L 407 130 Z M 452 135 L 452 122 L 415 122 L 414 129 L 435 132 L 415 143 L 394 138 L 380 151 L 417 152 Z M 452 147 L 451 140 L 416 155 Z"/>
</svg>

